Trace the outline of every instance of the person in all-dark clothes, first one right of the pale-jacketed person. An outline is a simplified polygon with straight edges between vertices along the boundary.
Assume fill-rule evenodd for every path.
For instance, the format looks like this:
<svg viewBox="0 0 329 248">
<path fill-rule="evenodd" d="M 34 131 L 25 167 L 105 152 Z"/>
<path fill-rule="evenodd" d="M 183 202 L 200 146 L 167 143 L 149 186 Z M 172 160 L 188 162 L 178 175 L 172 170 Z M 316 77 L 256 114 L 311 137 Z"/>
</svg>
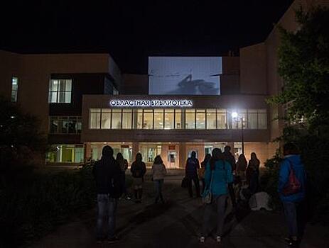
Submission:
<svg viewBox="0 0 329 248">
<path fill-rule="evenodd" d="M 188 181 L 188 193 L 193 197 L 192 181 L 195 185 L 196 197 L 200 197 L 200 183 L 198 177 L 198 169 L 200 169 L 199 160 L 196 158 L 196 152 L 191 152 L 190 158 L 186 161 L 185 176 Z"/>
</svg>

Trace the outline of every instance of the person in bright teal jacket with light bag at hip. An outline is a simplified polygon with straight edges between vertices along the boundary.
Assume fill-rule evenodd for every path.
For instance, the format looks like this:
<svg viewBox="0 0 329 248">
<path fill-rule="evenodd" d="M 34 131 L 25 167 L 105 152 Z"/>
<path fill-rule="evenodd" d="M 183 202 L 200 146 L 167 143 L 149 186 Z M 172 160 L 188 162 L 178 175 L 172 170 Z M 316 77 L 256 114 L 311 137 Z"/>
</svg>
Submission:
<svg viewBox="0 0 329 248">
<path fill-rule="evenodd" d="M 203 226 L 200 236 L 200 243 L 205 242 L 205 237 L 210 230 L 210 218 L 212 209 L 217 210 L 217 232 L 216 241 L 222 241 L 223 226 L 225 220 L 225 206 L 228 193 L 228 184 L 233 183 L 232 167 L 225 159 L 225 155 L 219 148 L 212 150 L 212 157 L 207 163 L 205 169 L 205 194 L 211 196 L 210 203 L 205 204 L 205 212 L 203 214 Z"/>
</svg>

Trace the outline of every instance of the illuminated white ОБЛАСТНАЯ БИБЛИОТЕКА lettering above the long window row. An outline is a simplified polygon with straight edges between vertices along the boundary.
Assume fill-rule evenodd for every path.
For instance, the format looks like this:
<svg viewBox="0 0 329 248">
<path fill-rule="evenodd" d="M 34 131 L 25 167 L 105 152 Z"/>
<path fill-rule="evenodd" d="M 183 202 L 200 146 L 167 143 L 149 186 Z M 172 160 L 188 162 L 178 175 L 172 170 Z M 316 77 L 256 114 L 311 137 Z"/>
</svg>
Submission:
<svg viewBox="0 0 329 248">
<path fill-rule="evenodd" d="M 109 106 L 111 107 L 143 107 L 143 108 L 154 108 L 154 107 L 192 107 L 193 101 L 191 100 L 110 100 Z"/>
</svg>

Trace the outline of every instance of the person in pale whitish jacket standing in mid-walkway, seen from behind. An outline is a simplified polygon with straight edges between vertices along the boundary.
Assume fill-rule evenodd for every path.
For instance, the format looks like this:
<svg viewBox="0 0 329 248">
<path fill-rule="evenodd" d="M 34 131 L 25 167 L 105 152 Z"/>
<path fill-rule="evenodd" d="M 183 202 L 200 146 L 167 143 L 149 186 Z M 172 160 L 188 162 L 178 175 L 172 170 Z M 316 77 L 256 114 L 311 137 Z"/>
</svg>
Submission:
<svg viewBox="0 0 329 248">
<path fill-rule="evenodd" d="M 167 174 L 167 170 L 161 157 L 158 155 L 154 159 L 153 166 L 152 166 L 152 179 L 154 181 L 154 186 L 156 188 L 156 201 L 161 200 L 161 203 L 164 203 L 163 196 L 162 196 L 162 186 L 163 186 L 163 179 Z"/>
</svg>

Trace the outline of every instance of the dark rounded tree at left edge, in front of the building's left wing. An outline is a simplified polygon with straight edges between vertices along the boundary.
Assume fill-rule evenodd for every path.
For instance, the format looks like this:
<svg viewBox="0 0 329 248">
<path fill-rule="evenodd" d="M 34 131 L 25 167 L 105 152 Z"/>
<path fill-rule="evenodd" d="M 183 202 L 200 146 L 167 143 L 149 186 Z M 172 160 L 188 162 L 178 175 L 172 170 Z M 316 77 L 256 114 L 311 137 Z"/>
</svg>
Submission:
<svg viewBox="0 0 329 248">
<path fill-rule="evenodd" d="M 29 164 L 47 148 L 36 117 L 0 98 L 0 165 Z"/>
</svg>

